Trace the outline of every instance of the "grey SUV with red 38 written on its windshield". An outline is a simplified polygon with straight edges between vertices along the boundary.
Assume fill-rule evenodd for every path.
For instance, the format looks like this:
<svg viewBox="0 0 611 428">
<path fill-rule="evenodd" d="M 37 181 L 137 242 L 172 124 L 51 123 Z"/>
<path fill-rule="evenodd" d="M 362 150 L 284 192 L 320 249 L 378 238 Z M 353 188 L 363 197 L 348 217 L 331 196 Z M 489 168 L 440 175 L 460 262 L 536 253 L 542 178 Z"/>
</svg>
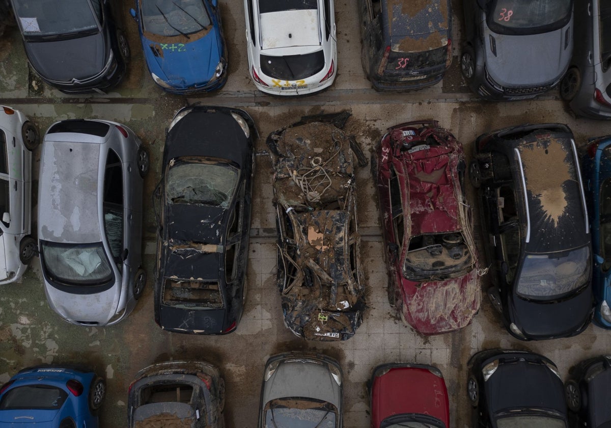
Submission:
<svg viewBox="0 0 611 428">
<path fill-rule="evenodd" d="M 464 0 L 461 70 L 486 100 L 556 86 L 573 54 L 573 0 Z"/>
</svg>

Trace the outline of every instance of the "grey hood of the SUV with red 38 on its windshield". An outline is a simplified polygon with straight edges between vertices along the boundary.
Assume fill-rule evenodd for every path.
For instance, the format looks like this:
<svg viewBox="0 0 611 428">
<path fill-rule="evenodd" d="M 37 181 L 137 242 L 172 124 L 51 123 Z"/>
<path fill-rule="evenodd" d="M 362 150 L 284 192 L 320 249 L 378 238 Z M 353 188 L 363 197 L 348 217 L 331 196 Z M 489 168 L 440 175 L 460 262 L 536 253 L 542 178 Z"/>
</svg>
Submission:
<svg viewBox="0 0 611 428">
<path fill-rule="evenodd" d="M 558 81 L 568 68 L 573 43 L 565 46 L 565 33 L 556 31 L 507 35 L 484 24 L 485 62 L 491 78 L 501 86 L 543 86 Z"/>
</svg>

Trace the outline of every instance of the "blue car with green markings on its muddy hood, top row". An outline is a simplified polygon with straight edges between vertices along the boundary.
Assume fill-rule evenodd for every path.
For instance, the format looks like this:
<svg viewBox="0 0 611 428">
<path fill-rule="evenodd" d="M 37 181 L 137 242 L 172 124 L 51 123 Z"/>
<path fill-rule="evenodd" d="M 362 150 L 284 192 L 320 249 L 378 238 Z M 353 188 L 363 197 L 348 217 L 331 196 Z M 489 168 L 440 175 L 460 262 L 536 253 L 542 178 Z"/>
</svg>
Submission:
<svg viewBox="0 0 611 428">
<path fill-rule="evenodd" d="M 227 47 L 218 0 L 136 0 L 148 71 L 174 94 L 220 89 L 227 81 Z"/>
</svg>

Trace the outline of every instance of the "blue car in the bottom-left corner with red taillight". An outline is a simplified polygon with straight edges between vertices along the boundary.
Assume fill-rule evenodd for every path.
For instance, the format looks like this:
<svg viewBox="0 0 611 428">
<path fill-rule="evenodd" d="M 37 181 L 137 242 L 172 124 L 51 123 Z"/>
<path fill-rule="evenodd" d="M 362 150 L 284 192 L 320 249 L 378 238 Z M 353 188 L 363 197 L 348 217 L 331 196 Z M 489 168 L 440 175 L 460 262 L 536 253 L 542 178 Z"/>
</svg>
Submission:
<svg viewBox="0 0 611 428">
<path fill-rule="evenodd" d="M 97 428 L 106 385 L 92 371 L 59 366 L 23 369 L 0 388 L 0 426 Z"/>
</svg>

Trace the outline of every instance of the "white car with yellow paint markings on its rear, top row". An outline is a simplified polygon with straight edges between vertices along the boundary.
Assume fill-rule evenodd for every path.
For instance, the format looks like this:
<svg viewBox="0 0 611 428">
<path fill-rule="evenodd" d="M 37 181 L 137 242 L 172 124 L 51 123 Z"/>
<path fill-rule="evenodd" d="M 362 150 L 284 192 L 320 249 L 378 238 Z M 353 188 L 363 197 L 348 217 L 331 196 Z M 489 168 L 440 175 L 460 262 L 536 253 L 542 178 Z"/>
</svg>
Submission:
<svg viewBox="0 0 611 428">
<path fill-rule="evenodd" d="M 244 0 L 248 66 L 258 90 L 312 94 L 337 73 L 333 0 Z"/>
</svg>

